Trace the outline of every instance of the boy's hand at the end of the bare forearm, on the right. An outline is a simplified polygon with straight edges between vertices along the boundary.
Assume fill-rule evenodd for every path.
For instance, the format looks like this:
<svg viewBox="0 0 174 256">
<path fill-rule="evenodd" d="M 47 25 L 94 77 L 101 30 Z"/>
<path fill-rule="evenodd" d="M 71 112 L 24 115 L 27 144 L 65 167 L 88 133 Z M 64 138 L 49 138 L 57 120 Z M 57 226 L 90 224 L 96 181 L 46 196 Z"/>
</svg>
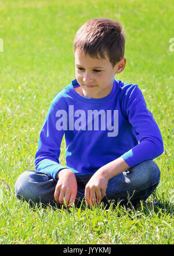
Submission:
<svg viewBox="0 0 174 256">
<path fill-rule="evenodd" d="M 85 200 L 87 204 L 96 205 L 106 195 L 108 177 L 99 170 L 90 178 L 85 187 Z"/>
</svg>

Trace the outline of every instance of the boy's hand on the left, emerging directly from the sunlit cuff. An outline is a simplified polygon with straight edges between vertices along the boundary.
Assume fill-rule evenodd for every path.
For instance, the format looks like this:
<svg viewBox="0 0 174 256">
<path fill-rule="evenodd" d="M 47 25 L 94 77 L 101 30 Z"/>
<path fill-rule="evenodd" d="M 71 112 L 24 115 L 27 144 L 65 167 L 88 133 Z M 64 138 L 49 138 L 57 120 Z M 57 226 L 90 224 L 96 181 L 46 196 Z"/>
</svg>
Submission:
<svg viewBox="0 0 174 256">
<path fill-rule="evenodd" d="M 77 180 L 74 172 L 70 169 L 62 169 L 57 173 L 57 185 L 55 189 L 55 200 L 59 204 L 63 204 L 64 207 L 69 208 L 71 202 L 75 202 L 77 195 Z M 66 204 L 64 203 L 64 200 Z"/>
</svg>

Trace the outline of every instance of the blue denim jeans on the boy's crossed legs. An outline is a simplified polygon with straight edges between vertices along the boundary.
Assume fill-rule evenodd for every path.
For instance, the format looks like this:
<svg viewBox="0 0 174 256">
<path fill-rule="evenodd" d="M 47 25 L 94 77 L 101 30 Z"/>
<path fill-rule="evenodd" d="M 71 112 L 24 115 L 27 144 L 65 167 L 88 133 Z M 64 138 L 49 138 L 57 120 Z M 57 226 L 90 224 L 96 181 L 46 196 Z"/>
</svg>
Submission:
<svg viewBox="0 0 174 256">
<path fill-rule="evenodd" d="M 78 185 L 75 204 L 78 206 L 85 196 L 85 186 L 92 174 L 75 173 L 75 177 Z M 160 169 L 157 163 L 147 160 L 111 178 L 108 181 L 106 197 L 102 201 L 104 204 L 107 204 L 108 200 L 115 200 L 116 203 L 121 201 L 126 204 L 132 197 L 131 202 L 134 205 L 140 200 L 145 201 L 159 182 Z M 55 205 L 56 184 L 57 182 L 48 173 L 27 170 L 19 176 L 15 183 L 16 197 L 27 202 Z"/>
</svg>

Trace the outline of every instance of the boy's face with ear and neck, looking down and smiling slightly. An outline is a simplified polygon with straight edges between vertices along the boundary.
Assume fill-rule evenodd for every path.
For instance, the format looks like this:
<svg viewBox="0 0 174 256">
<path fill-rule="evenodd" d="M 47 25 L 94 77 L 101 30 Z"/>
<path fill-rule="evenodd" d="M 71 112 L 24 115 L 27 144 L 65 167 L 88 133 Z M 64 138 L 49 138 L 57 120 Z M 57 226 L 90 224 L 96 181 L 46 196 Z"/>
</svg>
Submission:
<svg viewBox="0 0 174 256">
<path fill-rule="evenodd" d="M 75 76 L 82 87 L 82 95 L 89 98 L 103 98 L 111 93 L 116 73 L 120 73 L 126 64 L 122 58 L 114 67 L 108 57 L 92 58 L 88 54 L 75 52 Z"/>
</svg>

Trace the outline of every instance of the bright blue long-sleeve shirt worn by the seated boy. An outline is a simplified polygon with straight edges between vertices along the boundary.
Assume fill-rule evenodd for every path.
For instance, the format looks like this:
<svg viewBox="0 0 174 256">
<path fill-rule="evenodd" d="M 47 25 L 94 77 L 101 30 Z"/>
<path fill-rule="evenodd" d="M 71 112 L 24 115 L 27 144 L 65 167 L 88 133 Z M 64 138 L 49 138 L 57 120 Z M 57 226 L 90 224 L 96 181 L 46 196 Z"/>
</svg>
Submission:
<svg viewBox="0 0 174 256">
<path fill-rule="evenodd" d="M 133 167 L 164 152 L 160 129 L 137 84 L 114 80 L 111 93 L 97 99 L 78 94 L 78 86 L 71 81 L 53 99 L 39 134 L 36 170 L 56 180 L 63 168 L 95 173 L 119 157 Z M 59 162 L 64 135 L 66 166 Z"/>
</svg>

